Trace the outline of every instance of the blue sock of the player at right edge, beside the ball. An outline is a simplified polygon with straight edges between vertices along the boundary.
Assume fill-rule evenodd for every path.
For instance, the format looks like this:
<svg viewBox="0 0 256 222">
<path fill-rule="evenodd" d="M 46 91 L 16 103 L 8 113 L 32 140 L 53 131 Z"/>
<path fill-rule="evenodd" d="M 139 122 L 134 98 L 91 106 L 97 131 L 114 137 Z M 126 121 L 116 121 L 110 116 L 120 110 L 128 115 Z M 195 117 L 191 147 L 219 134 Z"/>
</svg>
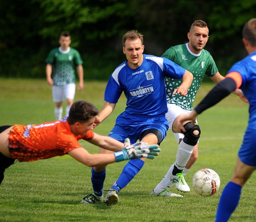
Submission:
<svg viewBox="0 0 256 222">
<path fill-rule="evenodd" d="M 242 187 L 236 183 L 229 182 L 224 188 L 218 204 L 215 222 L 228 221 L 236 209 L 240 200 Z"/>
</svg>

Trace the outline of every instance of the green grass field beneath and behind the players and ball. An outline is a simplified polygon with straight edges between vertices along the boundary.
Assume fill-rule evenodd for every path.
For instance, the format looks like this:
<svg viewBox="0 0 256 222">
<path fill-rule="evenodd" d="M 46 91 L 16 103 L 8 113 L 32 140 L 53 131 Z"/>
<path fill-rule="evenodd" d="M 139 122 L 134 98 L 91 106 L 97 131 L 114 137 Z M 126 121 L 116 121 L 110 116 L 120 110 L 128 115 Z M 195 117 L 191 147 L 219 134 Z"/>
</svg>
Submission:
<svg viewBox="0 0 256 222">
<path fill-rule="evenodd" d="M 101 109 L 106 82 L 85 82 L 84 90 L 76 92 L 75 100 L 88 100 Z M 195 104 L 212 88 L 203 83 Z M 51 87 L 45 80 L 0 79 L 0 126 L 39 124 L 54 121 Z M 124 96 L 114 112 L 95 132 L 107 135 L 116 116 L 125 108 Z M 161 152 L 147 160 L 143 169 L 120 193 L 118 204 L 80 204 L 92 192 L 91 169 L 68 155 L 28 163 L 16 163 L 6 169 L 0 185 L 0 221 L 42 222 L 213 222 L 220 194 L 232 176 L 238 149 L 248 121 L 248 105 L 230 95 L 198 118 L 202 130 L 199 158 L 185 179 L 192 189 L 183 198 L 151 196 L 151 190 L 162 180 L 175 161 L 178 144 L 172 132 L 161 143 Z M 90 153 L 99 148 L 88 142 L 81 145 Z M 104 189 L 120 175 L 125 163 L 107 167 Z M 212 197 L 193 191 L 194 173 L 210 168 L 221 179 L 220 190 Z M 245 185 L 240 204 L 231 222 L 256 221 L 255 173 Z M 174 187 L 173 193 L 179 193 Z"/>
</svg>

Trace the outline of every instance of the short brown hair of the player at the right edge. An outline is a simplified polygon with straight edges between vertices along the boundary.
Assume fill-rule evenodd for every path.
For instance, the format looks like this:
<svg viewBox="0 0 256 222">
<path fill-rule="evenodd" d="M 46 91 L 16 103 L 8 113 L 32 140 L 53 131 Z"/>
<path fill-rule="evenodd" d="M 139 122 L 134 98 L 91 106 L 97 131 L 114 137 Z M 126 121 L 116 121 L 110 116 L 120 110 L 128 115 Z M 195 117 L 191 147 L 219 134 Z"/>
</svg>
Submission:
<svg viewBox="0 0 256 222">
<path fill-rule="evenodd" d="M 243 28 L 243 37 L 252 47 L 256 46 L 256 18 L 250 19 Z"/>
</svg>

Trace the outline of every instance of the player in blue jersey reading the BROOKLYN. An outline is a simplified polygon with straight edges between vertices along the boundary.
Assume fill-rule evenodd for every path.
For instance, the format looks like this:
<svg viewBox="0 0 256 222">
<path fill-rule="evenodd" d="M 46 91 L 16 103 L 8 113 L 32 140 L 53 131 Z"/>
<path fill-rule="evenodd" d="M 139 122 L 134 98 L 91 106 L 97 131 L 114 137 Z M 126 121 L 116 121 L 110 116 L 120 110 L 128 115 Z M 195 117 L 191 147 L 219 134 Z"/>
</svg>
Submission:
<svg viewBox="0 0 256 222">
<path fill-rule="evenodd" d="M 128 31 L 123 36 L 123 52 L 126 61 L 119 65 L 110 76 L 105 90 L 105 104 L 98 115 L 95 125 L 100 124 L 114 110 L 122 92 L 127 102 L 126 109 L 117 119 L 108 136 L 124 141 L 130 138 L 131 143 L 144 141 L 160 144 L 166 137 L 168 121 L 166 90 L 164 78 L 181 79 L 182 84 L 174 90 L 174 94 L 186 96 L 193 79 L 192 73 L 176 65 L 169 59 L 143 54 L 143 35 L 136 30 Z M 106 153 L 103 149 L 100 153 Z M 118 192 L 124 188 L 140 171 L 145 159 L 129 161 L 120 177 L 108 191 L 104 202 L 111 205 L 118 202 Z M 103 200 L 103 183 L 106 166 L 92 168 L 92 187 L 94 197 L 83 198 L 82 203 L 95 203 Z M 178 194 L 172 194 L 180 196 Z"/>
</svg>

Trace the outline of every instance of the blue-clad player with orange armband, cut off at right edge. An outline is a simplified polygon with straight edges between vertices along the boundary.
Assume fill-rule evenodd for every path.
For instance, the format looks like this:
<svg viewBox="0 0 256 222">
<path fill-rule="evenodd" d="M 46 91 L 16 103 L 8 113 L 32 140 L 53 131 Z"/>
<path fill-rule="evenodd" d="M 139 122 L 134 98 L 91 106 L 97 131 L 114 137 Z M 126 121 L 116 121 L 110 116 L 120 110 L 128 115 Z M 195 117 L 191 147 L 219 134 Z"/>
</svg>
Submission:
<svg viewBox="0 0 256 222">
<path fill-rule="evenodd" d="M 216 222 L 226 222 L 238 206 L 242 187 L 256 169 L 256 18 L 246 22 L 243 28 L 243 42 L 248 56 L 235 63 L 190 114 L 178 116 L 179 128 L 183 121 L 195 120 L 204 110 L 214 106 L 236 88 L 241 88 L 249 101 L 249 121 L 243 143 L 238 151 L 236 167 L 231 180 L 224 188 L 216 212 Z"/>
</svg>

